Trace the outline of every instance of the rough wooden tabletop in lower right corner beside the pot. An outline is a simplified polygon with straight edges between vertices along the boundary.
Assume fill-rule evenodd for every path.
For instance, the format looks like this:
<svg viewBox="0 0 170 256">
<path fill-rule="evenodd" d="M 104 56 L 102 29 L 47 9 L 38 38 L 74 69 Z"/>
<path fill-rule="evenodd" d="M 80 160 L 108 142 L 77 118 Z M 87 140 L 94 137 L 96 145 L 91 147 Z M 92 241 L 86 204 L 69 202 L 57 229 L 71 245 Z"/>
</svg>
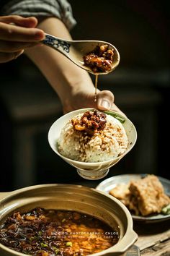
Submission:
<svg viewBox="0 0 170 256">
<path fill-rule="evenodd" d="M 170 220 L 159 223 L 134 223 L 135 243 L 141 256 L 170 256 Z"/>
</svg>

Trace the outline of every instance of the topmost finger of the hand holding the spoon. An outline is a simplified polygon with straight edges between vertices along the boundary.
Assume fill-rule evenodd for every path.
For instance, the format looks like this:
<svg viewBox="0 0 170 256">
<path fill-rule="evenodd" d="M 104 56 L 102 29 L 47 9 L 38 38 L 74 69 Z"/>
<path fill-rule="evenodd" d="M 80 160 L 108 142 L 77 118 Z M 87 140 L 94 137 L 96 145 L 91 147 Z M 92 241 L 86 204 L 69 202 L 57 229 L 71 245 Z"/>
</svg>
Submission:
<svg viewBox="0 0 170 256">
<path fill-rule="evenodd" d="M 10 16 L 2 16 L 0 17 L 0 22 L 4 23 L 14 23 L 15 25 L 19 25 L 22 27 L 36 27 L 37 19 L 35 17 L 21 17 L 18 15 L 10 15 Z"/>
</svg>

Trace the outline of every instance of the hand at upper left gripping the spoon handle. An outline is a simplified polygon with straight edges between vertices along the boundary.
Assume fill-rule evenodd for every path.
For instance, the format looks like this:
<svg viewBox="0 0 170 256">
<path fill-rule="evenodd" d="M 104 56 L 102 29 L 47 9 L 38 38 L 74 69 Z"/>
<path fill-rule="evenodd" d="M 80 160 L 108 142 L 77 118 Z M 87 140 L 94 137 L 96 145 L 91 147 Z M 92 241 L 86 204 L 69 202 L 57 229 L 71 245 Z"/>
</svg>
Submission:
<svg viewBox="0 0 170 256">
<path fill-rule="evenodd" d="M 45 35 L 35 28 L 35 17 L 17 15 L 0 17 L 0 63 L 16 59 L 24 48 L 35 46 Z"/>
</svg>

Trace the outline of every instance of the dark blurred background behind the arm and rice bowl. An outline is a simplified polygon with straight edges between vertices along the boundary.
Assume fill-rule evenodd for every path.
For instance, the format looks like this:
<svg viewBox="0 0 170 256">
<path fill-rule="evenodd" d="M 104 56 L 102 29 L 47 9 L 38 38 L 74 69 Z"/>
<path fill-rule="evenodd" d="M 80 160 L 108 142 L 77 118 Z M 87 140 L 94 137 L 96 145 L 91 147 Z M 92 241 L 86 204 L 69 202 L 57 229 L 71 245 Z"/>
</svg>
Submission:
<svg viewBox="0 0 170 256">
<path fill-rule="evenodd" d="M 115 103 L 133 121 L 138 141 L 109 176 L 149 173 L 169 177 L 168 1 L 71 0 L 75 40 L 109 41 L 120 51 L 115 72 L 99 77 Z M 43 57 L 43 56 L 42 56 Z M 0 65 L 0 191 L 32 184 L 70 183 L 94 187 L 48 145 L 48 129 L 62 115 L 58 96 L 27 59 Z M 94 77 L 92 77 L 94 79 Z"/>
</svg>

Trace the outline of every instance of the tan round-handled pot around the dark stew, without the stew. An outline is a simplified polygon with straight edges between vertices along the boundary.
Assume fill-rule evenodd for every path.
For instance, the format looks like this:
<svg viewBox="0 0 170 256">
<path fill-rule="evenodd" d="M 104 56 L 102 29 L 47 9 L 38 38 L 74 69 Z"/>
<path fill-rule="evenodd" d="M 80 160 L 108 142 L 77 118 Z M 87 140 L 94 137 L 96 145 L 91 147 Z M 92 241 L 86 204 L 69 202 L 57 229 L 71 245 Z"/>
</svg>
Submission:
<svg viewBox="0 0 170 256">
<path fill-rule="evenodd" d="M 138 239 L 133 231 L 133 219 L 115 197 L 97 189 L 69 184 L 44 184 L 25 187 L 13 192 L 0 193 L 0 225 L 16 211 L 27 212 L 33 208 L 76 210 L 95 216 L 111 227 L 120 227 L 120 239 L 114 246 L 95 256 L 124 255 Z M 0 244 L 1 256 L 25 256 Z"/>
</svg>

